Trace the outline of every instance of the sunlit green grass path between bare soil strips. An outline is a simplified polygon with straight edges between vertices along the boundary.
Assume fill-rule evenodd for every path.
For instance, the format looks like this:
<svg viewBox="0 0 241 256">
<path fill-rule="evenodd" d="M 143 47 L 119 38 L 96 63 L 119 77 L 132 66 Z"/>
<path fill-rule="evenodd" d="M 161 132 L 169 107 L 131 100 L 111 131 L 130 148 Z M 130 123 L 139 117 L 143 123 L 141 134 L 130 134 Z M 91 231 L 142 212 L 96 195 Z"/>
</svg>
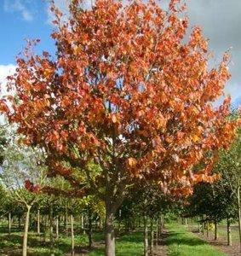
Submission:
<svg viewBox="0 0 241 256">
<path fill-rule="evenodd" d="M 215 247 L 211 247 L 206 241 L 199 239 L 184 226 L 168 224 L 169 256 L 226 256 Z"/>
</svg>

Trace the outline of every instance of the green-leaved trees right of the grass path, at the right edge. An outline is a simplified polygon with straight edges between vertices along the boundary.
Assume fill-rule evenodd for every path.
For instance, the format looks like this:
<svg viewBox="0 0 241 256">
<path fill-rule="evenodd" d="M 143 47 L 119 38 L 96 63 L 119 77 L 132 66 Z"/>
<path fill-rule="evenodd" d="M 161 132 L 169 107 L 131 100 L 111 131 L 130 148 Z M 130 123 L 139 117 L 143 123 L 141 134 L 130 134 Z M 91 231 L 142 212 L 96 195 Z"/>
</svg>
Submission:
<svg viewBox="0 0 241 256">
<path fill-rule="evenodd" d="M 228 150 L 219 152 L 219 160 L 213 173 L 220 177 L 214 183 L 198 183 L 193 195 L 188 199 L 186 216 L 199 217 L 204 222 L 215 224 L 215 240 L 217 224 L 227 219 L 227 243 L 232 245 L 231 224 L 238 220 L 239 241 L 241 249 L 241 208 L 240 208 L 240 177 L 241 177 L 241 135 L 232 143 Z"/>
</svg>

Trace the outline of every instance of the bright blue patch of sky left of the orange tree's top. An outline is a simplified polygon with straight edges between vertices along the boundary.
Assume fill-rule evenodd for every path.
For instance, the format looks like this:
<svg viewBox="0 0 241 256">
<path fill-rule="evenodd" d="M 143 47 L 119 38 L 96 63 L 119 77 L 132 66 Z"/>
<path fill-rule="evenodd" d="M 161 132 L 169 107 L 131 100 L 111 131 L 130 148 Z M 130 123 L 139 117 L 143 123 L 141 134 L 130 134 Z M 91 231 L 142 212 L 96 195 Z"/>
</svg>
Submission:
<svg viewBox="0 0 241 256">
<path fill-rule="evenodd" d="M 26 38 L 41 38 L 40 49 L 54 49 L 45 1 L 2 0 L 0 17 L 0 65 L 14 64 L 15 55 L 26 45 Z"/>
</svg>

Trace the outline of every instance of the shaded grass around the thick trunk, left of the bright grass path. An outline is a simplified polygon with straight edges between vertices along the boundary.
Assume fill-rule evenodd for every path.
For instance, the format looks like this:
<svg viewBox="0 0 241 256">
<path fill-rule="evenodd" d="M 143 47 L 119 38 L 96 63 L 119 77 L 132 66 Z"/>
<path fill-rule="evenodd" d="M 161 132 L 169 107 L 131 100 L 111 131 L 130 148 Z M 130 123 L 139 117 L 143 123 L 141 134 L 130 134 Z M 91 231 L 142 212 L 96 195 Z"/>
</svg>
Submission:
<svg viewBox="0 0 241 256">
<path fill-rule="evenodd" d="M 94 248 L 89 256 L 104 256 L 104 239 L 102 233 L 94 233 L 93 240 L 101 241 L 100 247 Z M 20 256 L 22 245 L 22 232 L 18 229 L 13 229 L 9 236 L 7 229 L 0 229 L 0 255 Z M 75 245 L 87 246 L 87 235 L 75 235 Z M 55 241 L 55 256 L 62 256 L 65 253 L 71 252 L 71 237 L 60 236 L 58 241 Z M 118 256 L 140 256 L 143 252 L 143 235 L 142 232 L 135 232 L 129 235 L 124 235 L 116 239 L 116 252 Z M 40 236 L 30 231 L 28 234 L 28 255 L 30 256 L 49 256 L 49 236 L 46 237 L 46 242 L 43 243 Z"/>
</svg>

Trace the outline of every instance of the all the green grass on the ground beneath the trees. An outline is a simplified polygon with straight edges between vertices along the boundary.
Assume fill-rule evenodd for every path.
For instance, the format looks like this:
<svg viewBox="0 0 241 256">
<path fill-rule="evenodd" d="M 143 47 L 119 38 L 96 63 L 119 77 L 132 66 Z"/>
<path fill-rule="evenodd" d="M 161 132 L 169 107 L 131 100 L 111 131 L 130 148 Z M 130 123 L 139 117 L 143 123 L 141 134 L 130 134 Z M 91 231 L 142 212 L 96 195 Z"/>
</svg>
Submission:
<svg viewBox="0 0 241 256">
<path fill-rule="evenodd" d="M 169 246 L 169 256 L 225 256 L 215 247 L 211 247 L 206 241 L 188 231 L 179 224 L 168 224 L 169 237 L 167 238 Z M 222 230 L 220 230 L 222 232 Z M 77 232 L 76 232 L 77 233 Z M 93 240 L 100 241 L 95 243 L 95 247 L 89 256 L 104 256 L 104 242 L 102 233 L 94 233 Z M 44 244 L 40 236 L 30 232 L 28 239 L 28 255 L 30 256 L 49 256 L 49 237 L 46 237 Z M 14 230 L 12 235 L 7 234 L 7 230 L 0 229 L 0 255 L 20 256 L 21 255 L 22 232 Z M 87 246 L 88 236 L 75 236 L 75 245 Z M 55 241 L 55 256 L 64 255 L 71 252 L 71 237 L 60 236 Z M 116 254 L 118 256 L 140 256 L 143 254 L 143 234 L 136 231 L 128 235 L 117 237 Z"/>
</svg>

